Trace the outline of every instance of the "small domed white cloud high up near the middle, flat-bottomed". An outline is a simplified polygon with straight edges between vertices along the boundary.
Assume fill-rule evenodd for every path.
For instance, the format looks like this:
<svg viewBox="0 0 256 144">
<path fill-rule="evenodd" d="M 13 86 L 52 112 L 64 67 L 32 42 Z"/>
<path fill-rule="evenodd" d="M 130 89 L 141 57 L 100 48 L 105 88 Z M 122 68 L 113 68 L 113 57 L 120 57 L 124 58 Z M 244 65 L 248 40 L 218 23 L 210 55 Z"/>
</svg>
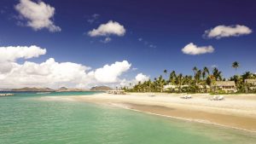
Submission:
<svg viewBox="0 0 256 144">
<path fill-rule="evenodd" d="M 125 27 L 120 25 L 118 22 L 109 20 L 108 23 L 102 24 L 97 29 L 93 29 L 92 31 L 88 32 L 88 35 L 90 37 L 109 35 L 124 36 Z"/>
</svg>

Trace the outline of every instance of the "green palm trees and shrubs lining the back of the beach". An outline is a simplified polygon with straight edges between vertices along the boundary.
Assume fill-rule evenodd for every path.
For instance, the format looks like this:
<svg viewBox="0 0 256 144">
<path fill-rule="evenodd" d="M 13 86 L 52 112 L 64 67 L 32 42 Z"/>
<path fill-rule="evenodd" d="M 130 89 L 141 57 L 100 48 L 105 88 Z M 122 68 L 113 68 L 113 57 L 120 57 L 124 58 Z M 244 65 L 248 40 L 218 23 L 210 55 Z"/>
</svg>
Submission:
<svg viewBox="0 0 256 144">
<path fill-rule="evenodd" d="M 239 63 L 235 61 L 232 64 L 232 67 L 237 69 Z M 169 78 L 167 78 L 167 70 L 164 70 L 166 78 L 163 78 L 160 75 L 158 78 L 154 78 L 154 81 L 150 79 L 145 82 L 138 82 L 132 87 L 124 87 L 122 89 L 129 92 L 170 92 L 170 93 L 212 93 L 215 92 L 212 89 L 212 85 L 219 81 L 235 81 L 236 83 L 236 93 L 255 93 L 256 86 L 253 84 L 247 84 L 246 79 L 256 78 L 256 74 L 252 72 L 244 72 L 242 75 L 234 75 L 228 79 L 222 77 L 222 72 L 218 70 L 217 67 L 212 69 L 212 72 L 209 71 L 207 66 L 203 69 L 198 69 L 196 66 L 193 67 L 193 75 L 183 75 L 183 73 L 177 73 L 172 71 L 169 73 Z M 171 85 L 171 88 L 164 89 L 164 85 Z M 224 93 L 223 90 L 219 90 L 218 93 Z"/>
</svg>

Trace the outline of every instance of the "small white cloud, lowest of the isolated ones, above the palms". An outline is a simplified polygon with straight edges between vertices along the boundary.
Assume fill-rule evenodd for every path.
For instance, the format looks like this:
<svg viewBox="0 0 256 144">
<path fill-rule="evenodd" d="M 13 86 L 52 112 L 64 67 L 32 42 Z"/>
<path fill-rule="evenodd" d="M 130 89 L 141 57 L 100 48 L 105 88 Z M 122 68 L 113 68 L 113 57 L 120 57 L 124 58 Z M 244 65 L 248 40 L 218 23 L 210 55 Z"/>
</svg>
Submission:
<svg viewBox="0 0 256 144">
<path fill-rule="evenodd" d="M 207 53 L 213 53 L 214 48 L 209 46 L 197 47 L 194 43 L 189 43 L 182 49 L 184 54 L 187 55 L 201 55 Z"/>
</svg>

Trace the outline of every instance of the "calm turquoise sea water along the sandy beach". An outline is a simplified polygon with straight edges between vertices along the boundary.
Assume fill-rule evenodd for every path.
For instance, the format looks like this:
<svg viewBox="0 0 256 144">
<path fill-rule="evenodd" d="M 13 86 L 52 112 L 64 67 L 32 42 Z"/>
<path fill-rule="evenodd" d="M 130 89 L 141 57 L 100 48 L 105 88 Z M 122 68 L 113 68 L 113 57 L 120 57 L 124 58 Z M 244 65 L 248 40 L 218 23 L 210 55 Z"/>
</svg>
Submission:
<svg viewBox="0 0 256 144">
<path fill-rule="evenodd" d="M 0 144 L 255 144 L 256 135 L 207 124 L 78 101 L 42 101 L 49 95 L 0 97 Z"/>
</svg>

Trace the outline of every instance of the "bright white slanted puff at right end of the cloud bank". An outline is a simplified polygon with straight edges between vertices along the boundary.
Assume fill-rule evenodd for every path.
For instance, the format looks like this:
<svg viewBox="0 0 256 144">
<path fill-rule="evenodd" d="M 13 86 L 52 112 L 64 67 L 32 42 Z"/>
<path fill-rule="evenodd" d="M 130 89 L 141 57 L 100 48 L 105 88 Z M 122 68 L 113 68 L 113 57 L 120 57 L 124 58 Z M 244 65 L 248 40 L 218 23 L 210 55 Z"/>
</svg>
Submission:
<svg viewBox="0 0 256 144">
<path fill-rule="evenodd" d="M 130 69 L 131 64 L 127 60 L 115 62 L 112 65 L 105 65 L 102 68 L 96 69 L 94 72 L 95 78 L 102 83 L 116 83 L 119 81 L 119 76 Z"/>
</svg>

